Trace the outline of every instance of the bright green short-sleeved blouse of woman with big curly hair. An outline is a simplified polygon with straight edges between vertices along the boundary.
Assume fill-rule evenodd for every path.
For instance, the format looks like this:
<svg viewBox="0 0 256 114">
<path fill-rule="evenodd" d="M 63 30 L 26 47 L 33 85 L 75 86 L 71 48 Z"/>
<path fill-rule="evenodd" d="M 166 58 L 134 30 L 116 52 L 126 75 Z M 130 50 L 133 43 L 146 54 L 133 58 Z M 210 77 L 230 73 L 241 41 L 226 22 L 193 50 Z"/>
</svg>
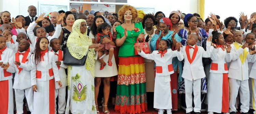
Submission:
<svg viewBox="0 0 256 114">
<path fill-rule="evenodd" d="M 137 41 L 137 37 L 140 33 L 144 32 L 141 22 L 134 23 L 135 28 L 139 28 L 139 32 L 135 32 L 134 30 L 127 30 L 128 35 L 125 39 L 125 42 L 122 46 L 120 46 L 118 56 L 120 57 L 128 57 L 128 56 L 135 56 L 134 54 L 134 43 Z M 116 27 L 116 38 L 122 38 L 125 34 L 125 29 L 119 25 Z"/>
</svg>

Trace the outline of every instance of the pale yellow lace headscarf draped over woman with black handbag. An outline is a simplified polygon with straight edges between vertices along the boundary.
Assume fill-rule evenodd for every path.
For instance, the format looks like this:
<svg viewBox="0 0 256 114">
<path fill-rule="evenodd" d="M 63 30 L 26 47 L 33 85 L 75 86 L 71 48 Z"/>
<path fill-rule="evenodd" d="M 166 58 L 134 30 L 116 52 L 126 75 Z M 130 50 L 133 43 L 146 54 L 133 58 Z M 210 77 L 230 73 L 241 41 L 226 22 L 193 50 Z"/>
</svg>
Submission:
<svg viewBox="0 0 256 114">
<path fill-rule="evenodd" d="M 91 75 L 94 77 L 94 68 L 95 68 L 95 54 L 94 48 L 90 48 L 89 46 L 93 43 L 91 42 L 91 38 L 87 36 L 87 30 L 85 33 L 81 33 L 80 25 L 82 22 L 86 23 L 84 19 L 75 20 L 72 26 L 72 32 L 70 33 L 67 41 L 67 47 L 70 54 L 76 59 L 82 59 L 84 55 L 87 53 L 87 58 L 85 62 L 85 68 L 90 71 Z M 68 75 L 70 78 L 70 75 Z"/>
</svg>

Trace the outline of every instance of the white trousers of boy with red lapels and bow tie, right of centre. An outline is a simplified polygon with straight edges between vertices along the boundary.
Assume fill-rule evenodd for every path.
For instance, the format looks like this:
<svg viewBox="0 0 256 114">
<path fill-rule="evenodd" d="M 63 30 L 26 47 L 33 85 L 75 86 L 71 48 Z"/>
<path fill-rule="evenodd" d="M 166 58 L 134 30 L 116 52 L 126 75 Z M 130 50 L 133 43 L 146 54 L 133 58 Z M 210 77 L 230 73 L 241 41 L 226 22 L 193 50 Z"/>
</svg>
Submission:
<svg viewBox="0 0 256 114">
<path fill-rule="evenodd" d="M 200 112 L 201 110 L 201 79 L 187 80 L 185 82 L 185 101 L 186 101 L 186 113 L 192 112 L 192 92 L 194 94 L 194 112 Z"/>
</svg>

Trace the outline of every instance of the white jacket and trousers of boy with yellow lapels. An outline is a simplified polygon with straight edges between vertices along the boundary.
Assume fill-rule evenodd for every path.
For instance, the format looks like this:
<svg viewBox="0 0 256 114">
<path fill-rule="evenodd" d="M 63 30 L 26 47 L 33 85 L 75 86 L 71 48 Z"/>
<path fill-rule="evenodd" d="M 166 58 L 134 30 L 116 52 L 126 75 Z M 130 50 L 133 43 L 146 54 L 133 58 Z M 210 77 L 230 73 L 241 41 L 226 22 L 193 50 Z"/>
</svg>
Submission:
<svg viewBox="0 0 256 114">
<path fill-rule="evenodd" d="M 238 45 L 242 46 L 238 43 Z M 249 85 L 248 85 L 248 62 L 251 61 L 252 55 L 248 52 L 246 60 L 242 64 L 239 56 L 240 54 L 243 55 L 244 49 L 249 51 L 249 49 L 246 48 L 238 48 L 234 46 L 234 44 L 231 44 L 231 53 L 232 53 L 232 61 L 230 62 L 229 66 L 229 73 L 228 73 L 228 81 L 229 81 L 229 112 L 237 111 L 235 104 L 236 99 L 238 96 L 238 91 L 240 93 L 240 102 L 241 105 L 241 111 L 243 113 L 246 113 L 249 111 L 250 107 L 250 92 L 249 92 Z"/>
</svg>

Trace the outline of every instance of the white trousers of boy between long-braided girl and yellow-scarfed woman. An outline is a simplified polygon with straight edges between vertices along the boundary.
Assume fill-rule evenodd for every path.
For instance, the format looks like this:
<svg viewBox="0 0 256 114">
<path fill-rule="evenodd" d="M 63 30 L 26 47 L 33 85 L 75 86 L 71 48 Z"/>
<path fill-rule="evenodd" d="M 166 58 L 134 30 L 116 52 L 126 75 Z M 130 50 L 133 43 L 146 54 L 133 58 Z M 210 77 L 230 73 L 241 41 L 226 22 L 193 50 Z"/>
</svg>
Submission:
<svg viewBox="0 0 256 114">
<path fill-rule="evenodd" d="M 66 107 L 66 87 L 55 89 L 55 114 L 57 114 L 57 104 L 56 99 L 58 97 L 58 113 L 65 113 Z"/>
</svg>

